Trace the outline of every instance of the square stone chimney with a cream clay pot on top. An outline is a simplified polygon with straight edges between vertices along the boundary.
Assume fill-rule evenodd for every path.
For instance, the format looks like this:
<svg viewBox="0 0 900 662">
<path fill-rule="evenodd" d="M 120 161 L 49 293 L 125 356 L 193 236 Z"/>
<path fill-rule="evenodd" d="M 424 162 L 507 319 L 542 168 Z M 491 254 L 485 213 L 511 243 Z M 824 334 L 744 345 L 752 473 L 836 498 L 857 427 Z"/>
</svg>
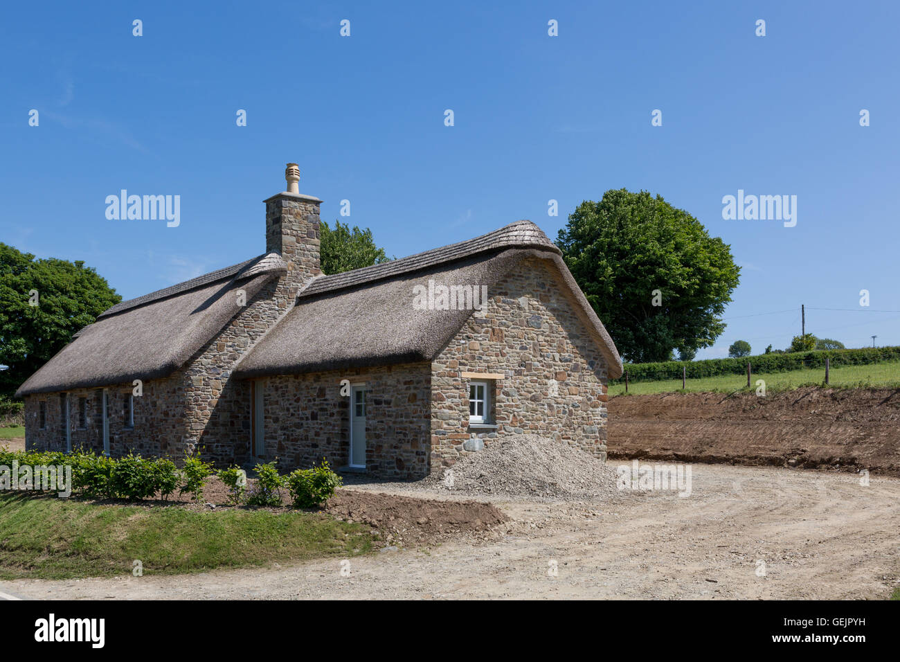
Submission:
<svg viewBox="0 0 900 662">
<path fill-rule="evenodd" d="M 287 190 L 266 200 L 266 253 L 287 262 L 287 279 L 296 290 L 321 273 L 319 205 L 322 201 L 300 193 L 300 168 L 284 169 Z"/>
</svg>

